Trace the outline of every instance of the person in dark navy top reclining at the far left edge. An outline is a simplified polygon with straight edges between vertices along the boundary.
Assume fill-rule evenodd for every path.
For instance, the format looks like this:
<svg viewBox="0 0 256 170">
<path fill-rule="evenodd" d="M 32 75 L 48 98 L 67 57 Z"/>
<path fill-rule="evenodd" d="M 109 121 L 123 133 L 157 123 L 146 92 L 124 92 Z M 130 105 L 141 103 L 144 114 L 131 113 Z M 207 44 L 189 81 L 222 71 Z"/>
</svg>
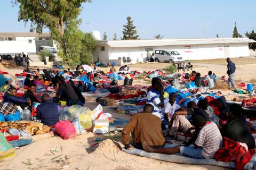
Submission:
<svg viewBox="0 0 256 170">
<path fill-rule="evenodd" d="M 7 92 L 5 92 L 3 96 L 3 101 L 2 103 L 10 103 L 13 106 L 17 105 L 20 106 L 22 109 L 25 107 L 28 107 L 31 105 L 31 100 L 30 98 L 22 98 L 17 96 L 17 91 L 14 88 L 9 88 Z"/>
</svg>

